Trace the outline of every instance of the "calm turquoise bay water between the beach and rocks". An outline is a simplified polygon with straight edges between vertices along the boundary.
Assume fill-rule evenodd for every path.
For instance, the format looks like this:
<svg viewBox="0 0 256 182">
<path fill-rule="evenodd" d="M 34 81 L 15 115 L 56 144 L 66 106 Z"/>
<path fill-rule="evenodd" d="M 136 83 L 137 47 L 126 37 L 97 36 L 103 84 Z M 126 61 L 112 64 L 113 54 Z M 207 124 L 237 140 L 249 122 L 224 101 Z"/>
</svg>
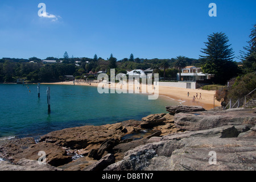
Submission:
<svg viewBox="0 0 256 182">
<path fill-rule="evenodd" d="M 48 114 L 47 86 L 51 88 Z M 30 92 L 29 92 L 30 90 Z M 104 125 L 166 113 L 179 105 L 164 97 L 148 100 L 146 94 L 99 94 L 97 87 L 80 85 L 0 84 L 0 137 L 34 137 L 54 130 L 84 125 Z"/>
</svg>

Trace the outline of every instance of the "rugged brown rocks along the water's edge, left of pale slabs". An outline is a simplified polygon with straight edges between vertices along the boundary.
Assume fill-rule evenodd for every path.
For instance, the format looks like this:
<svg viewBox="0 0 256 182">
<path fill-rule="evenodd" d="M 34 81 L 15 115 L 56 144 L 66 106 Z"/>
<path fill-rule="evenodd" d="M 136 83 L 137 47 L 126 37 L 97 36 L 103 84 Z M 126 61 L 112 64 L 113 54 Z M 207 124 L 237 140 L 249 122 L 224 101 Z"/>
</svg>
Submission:
<svg viewBox="0 0 256 182">
<path fill-rule="evenodd" d="M 144 131 L 143 125 L 147 125 L 150 132 Z M 51 166 L 63 170 L 96 170 L 98 167 L 92 165 L 98 166 L 101 159 L 99 165 L 105 163 L 105 156 L 109 154 L 114 156 L 111 155 L 111 159 L 114 159 L 111 163 L 118 162 L 123 159 L 125 152 L 146 144 L 148 139 L 176 133 L 178 130 L 172 115 L 153 114 L 143 118 L 143 121 L 129 120 L 112 125 L 52 131 L 43 135 L 38 143 L 33 138 L 0 141 L 0 158 L 14 165 L 23 158 L 37 161 L 40 158 L 39 151 L 44 151 L 46 162 Z M 131 135 L 131 138 L 124 139 L 125 135 Z M 141 135 L 141 139 L 136 138 L 137 135 Z"/>
</svg>

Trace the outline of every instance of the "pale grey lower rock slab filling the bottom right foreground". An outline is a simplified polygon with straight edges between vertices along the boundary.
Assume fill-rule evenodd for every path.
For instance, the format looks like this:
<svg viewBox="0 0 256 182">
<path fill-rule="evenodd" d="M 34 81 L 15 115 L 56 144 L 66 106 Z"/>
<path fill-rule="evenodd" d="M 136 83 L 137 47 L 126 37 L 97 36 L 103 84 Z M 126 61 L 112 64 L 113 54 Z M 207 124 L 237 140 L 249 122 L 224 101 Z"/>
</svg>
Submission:
<svg viewBox="0 0 256 182">
<path fill-rule="evenodd" d="M 239 139 L 234 131 L 234 126 L 224 126 L 167 135 L 126 152 L 123 160 L 105 170 L 255 170 L 255 138 Z M 216 164 L 211 163 L 211 151 Z"/>
</svg>

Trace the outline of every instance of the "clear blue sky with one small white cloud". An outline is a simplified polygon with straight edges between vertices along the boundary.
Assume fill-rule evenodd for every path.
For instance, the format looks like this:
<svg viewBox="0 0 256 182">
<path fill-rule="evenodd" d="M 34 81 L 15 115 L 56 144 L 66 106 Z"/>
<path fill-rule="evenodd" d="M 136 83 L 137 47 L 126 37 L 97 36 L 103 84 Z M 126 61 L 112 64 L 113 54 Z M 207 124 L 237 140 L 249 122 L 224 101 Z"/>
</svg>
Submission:
<svg viewBox="0 0 256 182">
<path fill-rule="evenodd" d="M 217 17 L 210 17 L 210 3 Z M 46 4 L 38 16 L 39 3 Z M 0 57 L 199 58 L 207 36 L 224 32 L 235 55 L 256 23 L 255 0 L 1 0 Z M 238 60 L 238 59 L 235 59 Z"/>
</svg>

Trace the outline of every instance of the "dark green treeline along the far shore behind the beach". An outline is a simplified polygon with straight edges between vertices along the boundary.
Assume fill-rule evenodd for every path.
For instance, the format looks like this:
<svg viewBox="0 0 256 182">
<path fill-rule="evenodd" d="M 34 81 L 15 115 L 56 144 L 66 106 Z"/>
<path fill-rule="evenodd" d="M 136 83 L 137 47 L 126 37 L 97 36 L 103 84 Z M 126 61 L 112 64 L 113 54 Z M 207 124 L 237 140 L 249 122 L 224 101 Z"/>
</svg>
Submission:
<svg viewBox="0 0 256 182">
<path fill-rule="evenodd" d="M 92 73 L 98 71 L 106 71 L 110 74 L 110 69 L 115 68 L 115 73 L 127 73 L 133 69 L 155 69 L 155 73 L 159 73 L 160 77 L 167 79 L 176 78 L 178 70 L 174 68 L 175 59 L 117 59 L 110 55 L 109 59 L 102 59 L 94 55 L 93 59 L 88 57 L 64 57 L 57 59 L 56 57 L 47 57 L 45 60 L 55 60 L 57 63 L 43 64 L 41 59 L 31 57 L 30 59 L 0 59 L 0 82 L 16 82 L 18 78 L 30 82 L 53 82 L 65 81 L 65 75 L 72 75 L 76 78 L 96 78 Z M 33 61 L 32 63 L 30 63 Z M 162 67 L 163 62 L 168 62 L 168 68 L 164 75 Z M 187 65 L 200 66 L 200 60 L 185 59 Z"/>
</svg>

